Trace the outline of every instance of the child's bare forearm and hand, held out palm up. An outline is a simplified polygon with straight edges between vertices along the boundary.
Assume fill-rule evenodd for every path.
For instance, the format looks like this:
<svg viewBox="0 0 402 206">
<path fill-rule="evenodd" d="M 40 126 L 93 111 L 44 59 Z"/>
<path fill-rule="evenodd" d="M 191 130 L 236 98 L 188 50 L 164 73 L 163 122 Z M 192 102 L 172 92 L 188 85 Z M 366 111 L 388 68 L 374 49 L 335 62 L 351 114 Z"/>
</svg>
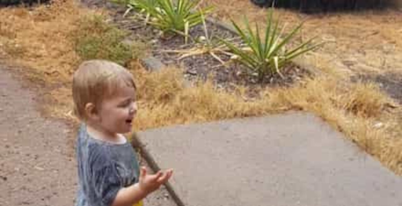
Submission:
<svg viewBox="0 0 402 206">
<path fill-rule="evenodd" d="M 157 190 L 160 185 L 168 181 L 172 176 L 172 169 L 154 175 L 148 175 L 145 167 L 142 167 L 139 173 L 139 181 L 129 187 L 124 187 L 117 192 L 112 206 L 131 206 L 144 199 L 148 194 Z"/>
</svg>

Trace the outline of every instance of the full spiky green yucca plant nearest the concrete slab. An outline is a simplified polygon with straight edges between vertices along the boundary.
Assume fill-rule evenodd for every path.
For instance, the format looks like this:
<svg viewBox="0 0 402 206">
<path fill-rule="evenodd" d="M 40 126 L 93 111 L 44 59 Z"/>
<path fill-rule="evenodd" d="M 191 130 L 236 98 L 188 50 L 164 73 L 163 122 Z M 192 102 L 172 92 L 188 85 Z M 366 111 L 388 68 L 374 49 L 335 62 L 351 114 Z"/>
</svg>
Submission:
<svg viewBox="0 0 402 206">
<path fill-rule="evenodd" d="M 225 39 L 220 40 L 225 43 L 235 55 L 232 59 L 236 59 L 246 65 L 250 73 L 257 74 L 260 81 L 268 74 L 273 75 L 275 73 L 283 78 L 281 68 L 283 68 L 285 64 L 289 63 L 293 58 L 321 45 L 321 43 L 311 45 L 314 39 L 311 38 L 293 49 L 288 50 L 286 47 L 289 45 L 290 40 L 301 29 L 303 23 L 293 28 L 285 37 L 282 37 L 285 25 L 279 28 L 279 19 L 276 21 L 273 20 L 273 8 L 271 8 L 271 11 L 267 14 L 267 27 L 263 39 L 260 36 L 258 24 L 255 24 L 255 31 L 252 31 L 247 18 L 244 18 L 244 23 L 246 29 L 240 29 L 232 20 L 232 24 L 245 46 L 230 43 Z"/>
</svg>

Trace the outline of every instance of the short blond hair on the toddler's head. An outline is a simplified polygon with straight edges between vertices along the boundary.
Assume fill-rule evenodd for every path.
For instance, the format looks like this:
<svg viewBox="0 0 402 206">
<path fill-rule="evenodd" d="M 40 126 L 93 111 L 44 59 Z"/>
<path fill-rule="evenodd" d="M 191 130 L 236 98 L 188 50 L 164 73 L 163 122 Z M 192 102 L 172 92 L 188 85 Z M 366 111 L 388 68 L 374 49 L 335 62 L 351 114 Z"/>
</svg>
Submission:
<svg viewBox="0 0 402 206">
<path fill-rule="evenodd" d="M 73 77 L 74 113 L 85 120 L 86 104 L 93 103 L 100 109 L 102 100 L 123 85 L 136 89 L 132 74 L 123 66 L 106 60 L 83 62 Z"/>
</svg>

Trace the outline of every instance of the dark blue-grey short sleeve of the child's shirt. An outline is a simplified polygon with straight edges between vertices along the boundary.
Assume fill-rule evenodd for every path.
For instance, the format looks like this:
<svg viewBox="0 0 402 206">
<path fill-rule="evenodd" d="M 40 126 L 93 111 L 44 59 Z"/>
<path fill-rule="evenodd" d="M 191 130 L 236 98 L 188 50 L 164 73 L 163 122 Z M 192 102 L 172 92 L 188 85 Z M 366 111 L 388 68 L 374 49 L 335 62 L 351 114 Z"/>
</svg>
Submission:
<svg viewBox="0 0 402 206">
<path fill-rule="evenodd" d="M 92 206 L 111 206 L 121 188 L 120 175 L 116 165 L 111 163 L 92 173 L 92 192 L 88 203 Z"/>
</svg>

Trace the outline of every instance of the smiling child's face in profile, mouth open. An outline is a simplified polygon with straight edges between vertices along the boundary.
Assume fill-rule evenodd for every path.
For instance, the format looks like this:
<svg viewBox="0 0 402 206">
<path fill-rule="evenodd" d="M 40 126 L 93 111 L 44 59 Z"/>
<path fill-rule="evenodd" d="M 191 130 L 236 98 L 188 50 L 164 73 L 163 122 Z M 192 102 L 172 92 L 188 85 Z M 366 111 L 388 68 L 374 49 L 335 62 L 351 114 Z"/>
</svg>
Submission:
<svg viewBox="0 0 402 206">
<path fill-rule="evenodd" d="M 131 131 L 136 113 L 134 88 L 121 86 L 111 97 L 103 99 L 98 124 L 109 135 L 127 133 Z"/>
</svg>

